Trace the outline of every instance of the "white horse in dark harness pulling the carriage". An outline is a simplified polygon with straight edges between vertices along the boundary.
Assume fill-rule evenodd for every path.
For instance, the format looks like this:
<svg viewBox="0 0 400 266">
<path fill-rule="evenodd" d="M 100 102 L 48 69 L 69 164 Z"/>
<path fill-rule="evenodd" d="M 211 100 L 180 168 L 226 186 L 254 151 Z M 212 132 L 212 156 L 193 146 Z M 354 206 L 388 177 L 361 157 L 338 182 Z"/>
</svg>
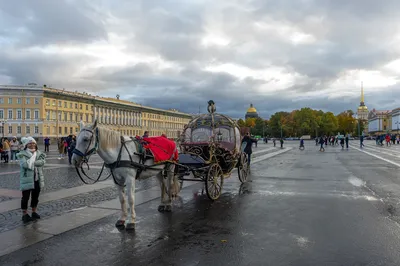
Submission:
<svg viewBox="0 0 400 266">
<path fill-rule="evenodd" d="M 92 125 L 85 126 L 81 122 L 81 130 L 76 139 L 76 147 L 72 156 L 75 167 L 80 167 L 83 161 L 87 161 L 90 155 L 94 153 L 98 153 L 106 166 L 110 166 L 114 181 L 117 183 L 122 213 L 115 224 L 116 227 L 125 226 L 126 230 L 135 229 L 135 179 L 138 171 L 139 179 L 156 176 L 159 180 L 161 204 L 158 211 L 170 212 L 172 210 L 173 194 L 179 193 L 178 182 L 174 180 L 174 164 L 166 163 L 152 166 L 154 165 L 152 158 L 148 158 L 142 164 L 135 142 L 130 137 L 121 136 L 117 131 L 98 126 L 97 119 Z M 120 162 L 120 165 L 115 167 L 117 161 Z M 133 166 L 131 166 L 132 163 Z M 141 166 L 151 167 L 143 169 Z M 129 215 L 126 194 L 128 194 Z"/>
</svg>

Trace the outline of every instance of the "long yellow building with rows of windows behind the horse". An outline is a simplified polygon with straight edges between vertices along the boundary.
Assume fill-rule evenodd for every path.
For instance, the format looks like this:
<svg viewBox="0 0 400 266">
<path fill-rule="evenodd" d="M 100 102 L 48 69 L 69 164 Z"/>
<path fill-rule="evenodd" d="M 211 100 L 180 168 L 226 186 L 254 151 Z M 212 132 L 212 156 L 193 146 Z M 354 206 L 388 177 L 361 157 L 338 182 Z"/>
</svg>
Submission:
<svg viewBox="0 0 400 266">
<path fill-rule="evenodd" d="M 77 134 L 79 122 L 98 122 L 124 135 L 178 138 L 192 115 L 117 98 L 31 86 L 0 85 L 0 135 L 42 139 Z"/>
</svg>

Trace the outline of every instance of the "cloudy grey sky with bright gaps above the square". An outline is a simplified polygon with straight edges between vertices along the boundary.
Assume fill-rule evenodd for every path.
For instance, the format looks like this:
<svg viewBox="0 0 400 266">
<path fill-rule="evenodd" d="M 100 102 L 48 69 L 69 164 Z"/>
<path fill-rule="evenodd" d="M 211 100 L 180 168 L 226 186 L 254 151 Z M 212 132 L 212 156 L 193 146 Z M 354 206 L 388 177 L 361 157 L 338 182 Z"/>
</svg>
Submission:
<svg viewBox="0 0 400 266">
<path fill-rule="evenodd" d="M 0 0 L 0 84 L 268 118 L 400 107 L 398 0 Z"/>
</svg>

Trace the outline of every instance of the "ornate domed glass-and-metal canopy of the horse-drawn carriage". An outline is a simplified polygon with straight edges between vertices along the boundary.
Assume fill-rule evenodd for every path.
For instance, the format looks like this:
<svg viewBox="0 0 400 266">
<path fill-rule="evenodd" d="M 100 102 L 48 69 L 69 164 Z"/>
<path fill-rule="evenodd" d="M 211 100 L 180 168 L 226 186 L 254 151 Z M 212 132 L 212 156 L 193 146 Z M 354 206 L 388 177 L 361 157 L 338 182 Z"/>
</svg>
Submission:
<svg viewBox="0 0 400 266">
<path fill-rule="evenodd" d="M 240 150 L 240 130 L 230 117 L 211 112 L 189 122 L 184 129 L 181 143 L 193 145 L 213 143 L 236 154 Z"/>
</svg>

